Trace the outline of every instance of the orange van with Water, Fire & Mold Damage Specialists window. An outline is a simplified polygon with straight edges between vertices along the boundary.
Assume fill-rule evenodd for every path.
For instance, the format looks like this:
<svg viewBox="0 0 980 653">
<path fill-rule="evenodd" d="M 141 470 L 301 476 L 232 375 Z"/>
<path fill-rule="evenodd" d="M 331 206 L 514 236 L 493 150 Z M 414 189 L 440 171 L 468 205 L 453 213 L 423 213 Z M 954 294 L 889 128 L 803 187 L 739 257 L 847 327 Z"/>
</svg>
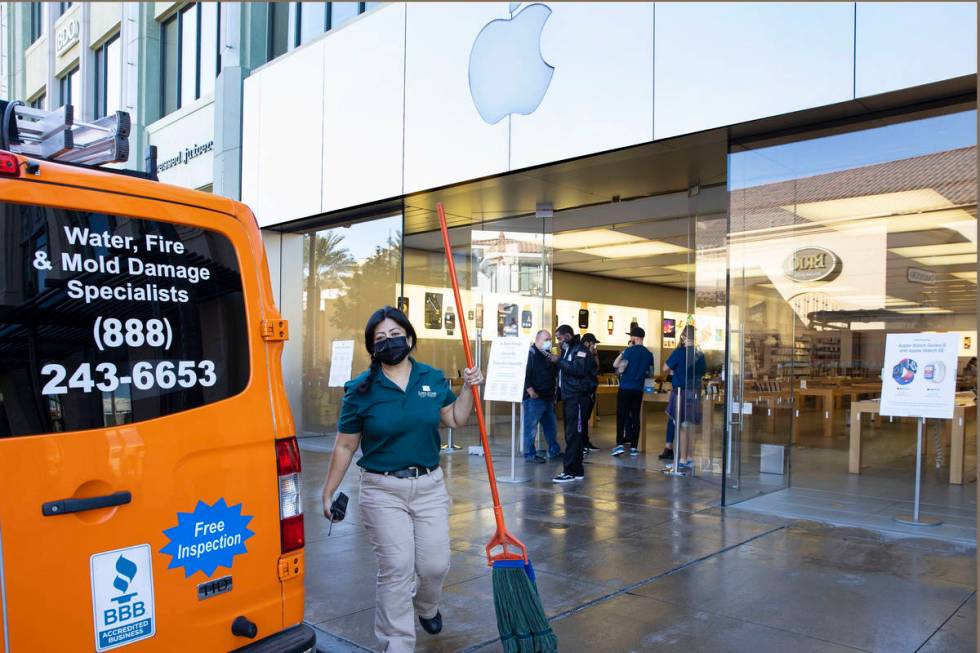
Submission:
<svg viewBox="0 0 980 653">
<path fill-rule="evenodd" d="M 314 650 L 287 335 L 244 205 L 0 151 L 0 653 Z"/>
</svg>

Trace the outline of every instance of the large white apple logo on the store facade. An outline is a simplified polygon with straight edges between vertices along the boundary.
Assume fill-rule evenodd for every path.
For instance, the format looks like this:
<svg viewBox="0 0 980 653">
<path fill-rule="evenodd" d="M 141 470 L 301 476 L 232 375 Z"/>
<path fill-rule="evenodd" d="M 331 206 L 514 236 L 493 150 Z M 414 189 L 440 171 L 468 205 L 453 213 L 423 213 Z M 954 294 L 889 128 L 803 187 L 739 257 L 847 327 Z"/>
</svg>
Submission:
<svg viewBox="0 0 980 653">
<path fill-rule="evenodd" d="M 541 31 L 551 16 L 543 4 L 510 3 L 510 18 L 483 26 L 470 51 L 470 95 L 480 117 L 495 125 L 512 113 L 533 113 L 555 69 L 541 56 Z"/>
</svg>

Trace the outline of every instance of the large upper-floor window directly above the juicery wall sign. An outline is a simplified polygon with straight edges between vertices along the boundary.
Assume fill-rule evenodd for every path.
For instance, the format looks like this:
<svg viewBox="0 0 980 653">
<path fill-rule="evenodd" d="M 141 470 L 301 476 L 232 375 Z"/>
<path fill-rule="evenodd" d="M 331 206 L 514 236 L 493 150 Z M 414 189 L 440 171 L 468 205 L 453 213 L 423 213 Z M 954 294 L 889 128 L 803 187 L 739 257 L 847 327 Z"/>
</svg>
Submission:
<svg viewBox="0 0 980 653">
<path fill-rule="evenodd" d="M 172 113 L 214 93 L 221 67 L 217 2 L 188 5 L 163 23 L 161 112 Z"/>
</svg>

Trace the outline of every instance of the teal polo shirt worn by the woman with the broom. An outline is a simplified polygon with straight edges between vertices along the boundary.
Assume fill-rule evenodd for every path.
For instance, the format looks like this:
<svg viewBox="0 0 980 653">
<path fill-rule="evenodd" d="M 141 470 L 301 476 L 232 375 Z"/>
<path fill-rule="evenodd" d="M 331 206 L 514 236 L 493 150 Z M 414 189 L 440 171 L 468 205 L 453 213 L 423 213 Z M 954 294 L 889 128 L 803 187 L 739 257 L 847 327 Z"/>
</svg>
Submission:
<svg viewBox="0 0 980 653">
<path fill-rule="evenodd" d="M 365 392 L 357 388 L 370 370 L 344 384 L 337 430 L 360 433 L 363 455 L 357 464 L 374 472 L 439 464 L 440 411 L 456 401 L 445 375 L 412 361 L 408 386 L 402 390 L 378 372 Z"/>
</svg>

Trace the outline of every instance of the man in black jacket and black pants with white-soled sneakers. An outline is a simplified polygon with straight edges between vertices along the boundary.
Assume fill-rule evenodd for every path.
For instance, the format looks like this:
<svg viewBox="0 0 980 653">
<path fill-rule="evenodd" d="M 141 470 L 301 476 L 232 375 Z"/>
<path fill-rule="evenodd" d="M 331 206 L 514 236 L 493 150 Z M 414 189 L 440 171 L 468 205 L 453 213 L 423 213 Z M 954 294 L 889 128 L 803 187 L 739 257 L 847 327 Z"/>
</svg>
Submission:
<svg viewBox="0 0 980 653">
<path fill-rule="evenodd" d="M 555 331 L 555 337 L 562 347 L 561 357 L 553 358 L 558 361 L 558 390 L 565 415 L 565 464 L 564 471 L 552 480 L 555 483 L 569 483 L 585 478 L 582 453 L 585 424 L 592 409 L 596 362 L 572 327 L 561 325 Z"/>
</svg>

